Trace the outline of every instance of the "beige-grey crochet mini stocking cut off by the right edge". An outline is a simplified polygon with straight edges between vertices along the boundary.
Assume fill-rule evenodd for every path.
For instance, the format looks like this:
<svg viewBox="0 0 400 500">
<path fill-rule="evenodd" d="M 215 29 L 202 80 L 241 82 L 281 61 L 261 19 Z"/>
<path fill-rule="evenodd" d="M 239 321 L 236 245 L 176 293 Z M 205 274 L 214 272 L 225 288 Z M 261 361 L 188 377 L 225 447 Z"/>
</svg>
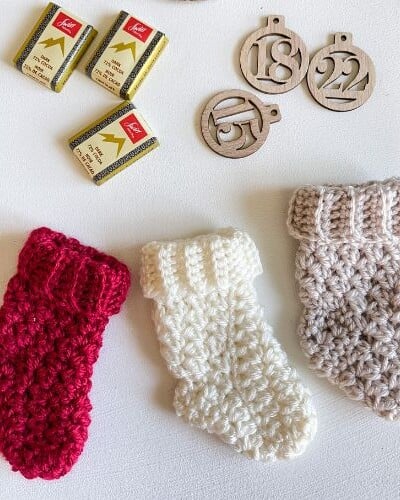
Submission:
<svg viewBox="0 0 400 500">
<path fill-rule="evenodd" d="M 311 368 L 400 417 L 400 181 L 306 186 L 290 205 L 300 240 L 300 343 Z"/>
</svg>

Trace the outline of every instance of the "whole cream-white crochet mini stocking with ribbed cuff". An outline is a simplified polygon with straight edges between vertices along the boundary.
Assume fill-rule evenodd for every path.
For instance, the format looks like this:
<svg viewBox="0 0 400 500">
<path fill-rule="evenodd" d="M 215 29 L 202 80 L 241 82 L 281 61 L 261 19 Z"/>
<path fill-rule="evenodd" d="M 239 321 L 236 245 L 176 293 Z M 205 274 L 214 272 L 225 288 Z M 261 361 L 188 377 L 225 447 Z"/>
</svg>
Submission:
<svg viewBox="0 0 400 500">
<path fill-rule="evenodd" d="M 174 407 L 190 424 L 264 461 L 302 453 L 316 420 L 309 394 L 263 321 L 262 268 L 232 229 L 142 250 L 161 353 L 178 379 Z"/>
</svg>

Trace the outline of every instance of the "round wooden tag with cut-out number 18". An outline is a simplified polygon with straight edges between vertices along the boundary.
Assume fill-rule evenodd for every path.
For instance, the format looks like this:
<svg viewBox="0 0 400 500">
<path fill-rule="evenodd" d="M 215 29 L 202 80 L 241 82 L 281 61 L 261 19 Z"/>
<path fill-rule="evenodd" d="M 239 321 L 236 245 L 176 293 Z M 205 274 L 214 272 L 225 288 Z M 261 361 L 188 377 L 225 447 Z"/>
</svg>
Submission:
<svg viewBox="0 0 400 500">
<path fill-rule="evenodd" d="M 254 88 L 282 94 L 307 73 L 309 56 L 302 39 L 285 28 L 283 16 L 268 16 L 267 26 L 252 33 L 240 51 L 240 68 Z"/>
</svg>

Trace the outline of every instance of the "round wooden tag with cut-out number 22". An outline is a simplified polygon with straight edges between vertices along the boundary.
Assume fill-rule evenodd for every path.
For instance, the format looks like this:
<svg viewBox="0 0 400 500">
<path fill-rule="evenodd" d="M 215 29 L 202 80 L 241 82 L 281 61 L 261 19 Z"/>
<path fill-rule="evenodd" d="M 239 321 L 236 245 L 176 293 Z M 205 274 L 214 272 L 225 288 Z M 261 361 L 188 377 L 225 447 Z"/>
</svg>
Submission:
<svg viewBox="0 0 400 500">
<path fill-rule="evenodd" d="M 314 99 L 333 111 L 351 111 L 370 97 L 375 68 L 369 56 L 352 45 L 351 33 L 336 33 L 334 43 L 313 57 L 307 74 Z"/>
</svg>

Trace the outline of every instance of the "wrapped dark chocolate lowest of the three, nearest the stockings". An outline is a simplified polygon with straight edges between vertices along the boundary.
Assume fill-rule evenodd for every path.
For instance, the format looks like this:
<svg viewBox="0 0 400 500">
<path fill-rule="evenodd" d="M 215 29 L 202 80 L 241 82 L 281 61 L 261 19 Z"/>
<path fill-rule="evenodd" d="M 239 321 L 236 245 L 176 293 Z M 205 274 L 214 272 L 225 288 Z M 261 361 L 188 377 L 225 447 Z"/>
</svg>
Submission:
<svg viewBox="0 0 400 500">
<path fill-rule="evenodd" d="M 69 139 L 93 181 L 103 184 L 159 146 L 135 106 L 125 101 Z"/>
</svg>

